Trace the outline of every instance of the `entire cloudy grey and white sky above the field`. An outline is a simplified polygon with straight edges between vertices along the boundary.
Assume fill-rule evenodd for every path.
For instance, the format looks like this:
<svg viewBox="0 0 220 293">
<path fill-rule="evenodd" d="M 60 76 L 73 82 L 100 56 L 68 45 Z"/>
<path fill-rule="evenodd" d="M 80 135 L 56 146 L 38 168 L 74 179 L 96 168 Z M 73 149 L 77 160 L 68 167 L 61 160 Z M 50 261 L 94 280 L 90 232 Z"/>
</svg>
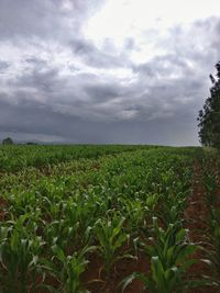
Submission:
<svg viewBox="0 0 220 293">
<path fill-rule="evenodd" d="M 0 139 L 198 145 L 219 0 L 0 0 Z"/>
</svg>

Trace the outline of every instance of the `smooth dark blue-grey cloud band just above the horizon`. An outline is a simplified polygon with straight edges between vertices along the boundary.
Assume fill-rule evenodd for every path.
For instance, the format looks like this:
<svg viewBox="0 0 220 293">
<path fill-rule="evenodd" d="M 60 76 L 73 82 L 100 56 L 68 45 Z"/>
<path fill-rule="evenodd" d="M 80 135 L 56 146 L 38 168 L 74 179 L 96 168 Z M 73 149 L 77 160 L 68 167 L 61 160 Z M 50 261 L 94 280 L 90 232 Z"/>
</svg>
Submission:
<svg viewBox="0 0 220 293">
<path fill-rule="evenodd" d="M 7 114 L 6 114 L 7 113 Z M 6 115 L 4 115 L 6 114 Z M 15 139 L 50 140 L 72 143 L 124 143 L 142 144 L 144 140 L 154 144 L 187 145 L 190 122 L 176 120 L 156 120 L 150 122 L 85 122 L 80 119 L 54 113 L 50 108 L 44 109 L 30 104 L 15 106 L 0 102 L 1 133 L 13 135 Z M 160 137 L 155 128 L 161 129 Z M 182 132 L 180 140 L 174 136 Z M 106 134 L 106 135 L 105 135 Z M 108 134 L 108 135 L 107 135 Z M 193 137 L 191 137 L 193 139 Z"/>
</svg>

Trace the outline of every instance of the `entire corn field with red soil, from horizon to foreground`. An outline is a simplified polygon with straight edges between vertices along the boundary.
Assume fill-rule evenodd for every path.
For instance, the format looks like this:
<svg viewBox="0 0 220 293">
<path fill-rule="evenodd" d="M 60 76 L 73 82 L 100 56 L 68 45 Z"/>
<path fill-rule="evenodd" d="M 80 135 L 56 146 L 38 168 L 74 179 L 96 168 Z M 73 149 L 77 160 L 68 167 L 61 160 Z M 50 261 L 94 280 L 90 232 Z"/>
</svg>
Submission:
<svg viewBox="0 0 220 293">
<path fill-rule="evenodd" d="M 220 291 L 220 158 L 1 146 L 0 292 Z"/>
</svg>

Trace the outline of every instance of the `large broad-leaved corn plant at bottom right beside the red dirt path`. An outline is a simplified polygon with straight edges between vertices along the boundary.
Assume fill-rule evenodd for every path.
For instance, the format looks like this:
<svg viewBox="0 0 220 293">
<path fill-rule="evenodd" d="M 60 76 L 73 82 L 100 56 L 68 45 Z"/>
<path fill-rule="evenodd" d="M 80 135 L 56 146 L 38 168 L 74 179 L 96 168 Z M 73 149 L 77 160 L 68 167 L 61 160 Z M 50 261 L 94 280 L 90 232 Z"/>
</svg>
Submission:
<svg viewBox="0 0 220 293">
<path fill-rule="evenodd" d="M 134 280 L 140 279 L 144 292 L 173 293 L 186 292 L 197 281 L 187 280 L 186 271 L 196 262 L 189 259 L 196 246 L 187 241 L 187 230 L 179 222 L 169 224 L 166 229 L 158 227 L 157 218 L 153 218 L 154 237 L 151 245 L 141 244 L 142 249 L 151 257 L 151 273 L 134 272 L 122 281 L 122 291 Z"/>
</svg>

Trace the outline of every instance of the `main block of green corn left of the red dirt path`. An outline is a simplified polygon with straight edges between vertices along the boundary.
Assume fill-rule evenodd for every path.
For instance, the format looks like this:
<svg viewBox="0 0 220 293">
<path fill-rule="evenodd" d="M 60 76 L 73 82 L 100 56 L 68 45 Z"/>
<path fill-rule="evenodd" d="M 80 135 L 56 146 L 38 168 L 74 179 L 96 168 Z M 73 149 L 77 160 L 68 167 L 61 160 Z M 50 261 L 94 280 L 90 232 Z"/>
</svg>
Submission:
<svg viewBox="0 0 220 293">
<path fill-rule="evenodd" d="M 118 263 L 146 257 L 147 292 L 184 292 L 198 249 L 184 228 L 196 148 L 152 148 L 26 168 L 1 178 L 1 292 L 105 292 Z M 85 280 L 100 259 L 96 280 Z"/>
</svg>

